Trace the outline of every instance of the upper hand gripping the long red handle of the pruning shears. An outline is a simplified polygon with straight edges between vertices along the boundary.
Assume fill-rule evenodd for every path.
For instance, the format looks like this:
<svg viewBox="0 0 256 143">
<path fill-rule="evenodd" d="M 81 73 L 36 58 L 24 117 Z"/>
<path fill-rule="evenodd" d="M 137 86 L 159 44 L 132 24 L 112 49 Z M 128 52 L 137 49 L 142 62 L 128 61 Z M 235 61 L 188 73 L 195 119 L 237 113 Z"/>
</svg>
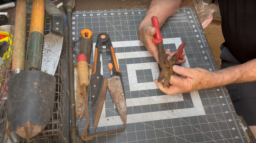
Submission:
<svg viewBox="0 0 256 143">
<path fill-rule="evenodd" d="M 152 22 L 142 21 L 138 28 L 138 34 L 140 41 L 144 44 L 147 50 L 153 54 L 156 61 L 159 63 L 157 45 L 152 42 L 157 29 L 153 27 Z"/>
</svg>

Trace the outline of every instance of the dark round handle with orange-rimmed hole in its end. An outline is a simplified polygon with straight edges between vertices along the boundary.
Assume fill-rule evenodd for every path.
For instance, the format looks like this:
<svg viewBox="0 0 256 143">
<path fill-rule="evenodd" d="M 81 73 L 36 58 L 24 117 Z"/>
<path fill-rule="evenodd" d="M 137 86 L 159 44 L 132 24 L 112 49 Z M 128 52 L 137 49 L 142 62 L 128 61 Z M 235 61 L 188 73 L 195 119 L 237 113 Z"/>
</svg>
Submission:
<svg viewBox="0 0 256 143">
<path fill-rule="evenodd" d="M 87 61 L 89 62 L 90 55 L 91 55 L 93 32 L 89 29 L 83 29 L 80 33 L 81 33 L 81 40 L 80 40 L 79 54 L 86 55 Z"/>
</svg>

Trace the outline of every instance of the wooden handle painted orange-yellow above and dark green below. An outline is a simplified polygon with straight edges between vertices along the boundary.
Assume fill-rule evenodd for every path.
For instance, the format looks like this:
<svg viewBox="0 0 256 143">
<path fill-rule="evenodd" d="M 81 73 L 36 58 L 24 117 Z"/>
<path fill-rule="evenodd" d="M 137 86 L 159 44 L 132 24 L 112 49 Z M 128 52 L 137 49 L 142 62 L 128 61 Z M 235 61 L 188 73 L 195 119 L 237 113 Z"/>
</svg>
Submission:
<svg viewBox="0 0 256 143">
<path fill-rule="evenodd" d="M 40 70 L 44 32 L 44 0 L 33 0 L 30 36 L 29 36 L 29 69 Z"/>
</svg>

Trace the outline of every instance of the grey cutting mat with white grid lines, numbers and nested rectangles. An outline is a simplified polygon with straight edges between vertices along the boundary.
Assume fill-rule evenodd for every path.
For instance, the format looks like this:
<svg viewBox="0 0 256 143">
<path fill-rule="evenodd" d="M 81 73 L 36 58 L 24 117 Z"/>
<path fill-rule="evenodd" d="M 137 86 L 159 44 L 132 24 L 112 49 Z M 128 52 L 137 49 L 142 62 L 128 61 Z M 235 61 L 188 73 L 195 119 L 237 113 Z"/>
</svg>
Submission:
<svg viewBox="0 0 256 143">
<path fill-rule="evenodd" d="M 138 26 L 147 9 L 113 9 L 74 11 L 72 13 L 73 40 L 82 29 L 93 32 L 90 64 L 93 65 L 96 37 L 108 33 L 122 72 L 127 102 L 126 129 L 100 135 L 88 142 L 98 143 L 242 143 L 246 141 L 238 117 L 225 87 L 203 89 L 190 93 L 166 95 L 155 85 L 159 68 L 138 37 Z M 180 7 L 160 29 L 164 46 L 176 51 L 186 42 L 185 67 L 216 71 L 217 65 L 210 51 L 193 7 Z M 75 45 L 74 64 L 79 54 Z M 109 78 L 109 55 L 102 54 L 101 74 Z M 76 87 L 76 86 L 75 86 Z M 89 95 L 90 99 L 90 95 Z M 89 100 L 89 110 L 91 103 Z M 95 133 L 91 111 L 87 134 Z M 85 119 L 78 119 L 81 135 Z M 124 127 L 107 91 L 97 132 Z"/>
</svg>

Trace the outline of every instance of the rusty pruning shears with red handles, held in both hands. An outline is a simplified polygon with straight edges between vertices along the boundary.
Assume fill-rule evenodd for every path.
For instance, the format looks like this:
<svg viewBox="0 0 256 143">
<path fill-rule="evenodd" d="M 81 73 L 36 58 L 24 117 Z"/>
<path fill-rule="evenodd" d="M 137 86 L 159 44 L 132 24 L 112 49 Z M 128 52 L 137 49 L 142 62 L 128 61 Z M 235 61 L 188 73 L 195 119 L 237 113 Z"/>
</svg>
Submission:
<svg viewBox="0 0 256 143">
<path fill-rule="evenodd" d="M 186 43 L 183 42 L 179 46 L 177 52 L 172 56 L 172 58 L 168 60 L 167 58 L 169 55 L 165 53 L 165 48 L 163 46 L 163 39 L 160 33 L 158 19 L 156 16 L 152 16 L 151 21 L 153 26 L 157 28 L 157 32 L 154 35 L 155 39 L 152 42 L 155 43 L 158 47 L 159 65 L 161 68 L 160 75 L 158 77 L 158 82 L 161 82 L 164 79 L 164 84 L 163 84 L 163 88 L 164 88 L 167 86 L 167 84 L 170 81 L 171 75 L 174 73 L 172 69 L 173 65 L 176 64 L 178 59 L 183 60 L 182 52 Z"/>
</svg>

